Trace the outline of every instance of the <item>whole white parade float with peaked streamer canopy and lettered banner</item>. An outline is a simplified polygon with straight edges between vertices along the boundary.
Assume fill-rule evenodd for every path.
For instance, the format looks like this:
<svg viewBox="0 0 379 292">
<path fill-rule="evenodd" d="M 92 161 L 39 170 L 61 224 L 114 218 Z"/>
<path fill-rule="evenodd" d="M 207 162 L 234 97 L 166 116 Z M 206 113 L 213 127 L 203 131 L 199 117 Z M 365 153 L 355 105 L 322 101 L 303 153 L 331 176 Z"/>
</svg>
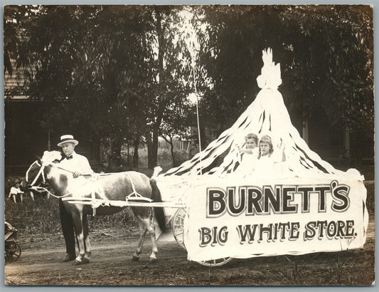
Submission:
<svg viewBox="0 0 379 292">
<path fill-rule="evenodd" d="M 280 64 L 271 49 L 262 53 L 260 93 L 240 118 L 191 160 L 155 178 L 164 201 L 186 206 L 166 214 L 188 260 L 221 265 L 365 244 L 363 175 L 336 170 L 309 148 L 279 93 Z M 273 150 L 270 159 L 255 157 L 250 169 L 240 152 L 249 133 L 269 137 Z"/>
</svg>

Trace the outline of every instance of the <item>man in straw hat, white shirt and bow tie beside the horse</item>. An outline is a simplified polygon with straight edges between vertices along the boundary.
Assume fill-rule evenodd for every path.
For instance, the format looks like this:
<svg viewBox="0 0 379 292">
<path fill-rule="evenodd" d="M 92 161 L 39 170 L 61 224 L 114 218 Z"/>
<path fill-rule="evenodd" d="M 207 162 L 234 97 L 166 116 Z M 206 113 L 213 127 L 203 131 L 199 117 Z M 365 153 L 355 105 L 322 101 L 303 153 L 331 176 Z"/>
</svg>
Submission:
<svg viewBox="0 0 379 292">
<path fill-rule="evenodd" d="M 63 135 L 60 137 L 59 147 L 62 147 L 63 155 L 65 156 L 63 160 L 59 162 L 59 166 L 65 170 L 70 170 L 73 172 L 73 177 L 79 177 L 82 174 L 93 173 L 90 162 L 87 158 L 77 154 L 74 149 L 78 145 L 78 140 L 74 139 L 73 135 Z M 75 253 L 75 232 L 73 217 L 68 213 L 63 206 L 62 199 L 59 199 L 59 211 L 60 211 L 60 224 L 62 224 L 63 236 L 65 238 L 66 252 L 67 255 L 63 262 L 73 261 L 76 258 Z"/>
</svg>

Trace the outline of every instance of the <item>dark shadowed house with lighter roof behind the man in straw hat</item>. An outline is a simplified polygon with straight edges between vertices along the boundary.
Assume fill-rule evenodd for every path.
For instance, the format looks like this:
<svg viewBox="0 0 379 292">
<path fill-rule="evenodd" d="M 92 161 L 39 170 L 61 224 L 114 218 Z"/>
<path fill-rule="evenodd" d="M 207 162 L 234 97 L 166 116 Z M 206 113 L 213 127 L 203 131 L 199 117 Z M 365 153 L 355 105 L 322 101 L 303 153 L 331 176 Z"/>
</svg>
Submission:
<svg viewBox="0 0 379 292">
<path fill-rule="evenodd" d="M 60 150 L 57 143 L 60 135 L 48 125 L 43 127 L 38 115 L 52 107 L 51 102 L 32 100 L 23 88 L 23 68 L 16 68 L 12 75 L 4 74 L 4 124 L 5 124 L 5 175 L 23 176 L 29 165 L 43 155 L 45 150 Z M 53 113 L 52 113 L 53 114 Z M 100 169 L 102 151 L 100 145 L 93 145 L 86 137 L 71 133 L 80 141 L 75 151 L 85 155 L 92 169 Z"/>
</svg>

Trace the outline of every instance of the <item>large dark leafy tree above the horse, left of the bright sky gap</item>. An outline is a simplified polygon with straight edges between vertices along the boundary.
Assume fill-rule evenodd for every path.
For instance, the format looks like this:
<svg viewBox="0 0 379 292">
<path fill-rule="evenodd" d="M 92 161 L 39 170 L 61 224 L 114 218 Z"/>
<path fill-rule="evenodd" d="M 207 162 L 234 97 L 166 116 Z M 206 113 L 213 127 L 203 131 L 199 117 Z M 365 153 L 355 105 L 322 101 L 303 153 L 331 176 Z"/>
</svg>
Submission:
<svg viewBox="0 0 379 292">
<path fill-rule="evenodd" d="M 125 141 L 146 135 L 149 167 L 166 108 L 186 97 L 186 53 L 171 6 L 38 6 L 25 31 L 18 64 L 28 95 L 51 100 L 42 122 L 55 131 L 81 129 L 112 140 L 114 159 Z M 178 84 L 179 83 L 179 84 Z M 138 147 L 138 145 L 137 145 Z M 134 152 L 135 154 L 137 152 Z M 137 163 L 134 157 L 134 163 Z"/>
</svg>

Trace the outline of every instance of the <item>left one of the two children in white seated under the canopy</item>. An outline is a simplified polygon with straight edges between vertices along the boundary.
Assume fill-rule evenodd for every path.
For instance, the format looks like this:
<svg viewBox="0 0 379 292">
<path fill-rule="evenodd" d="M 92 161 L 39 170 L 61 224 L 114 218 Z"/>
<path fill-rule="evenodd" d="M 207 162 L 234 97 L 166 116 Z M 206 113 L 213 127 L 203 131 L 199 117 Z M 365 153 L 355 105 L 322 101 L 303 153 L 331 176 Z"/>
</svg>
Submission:
<svg viewBox="0 0 379 292">
<path fill-rule="evenodd" d="M 245 137 L 244 147 L 237 146 L 237 149 L 241 154 L 241 162 L 237 168 L 237 173 L 250 174 L 250 172 L 252 172 L 255 160 L 257 160 L 259 154 L 257 145 L 257 135 L 254 133 L 249 133 Z"/>
</svg>

